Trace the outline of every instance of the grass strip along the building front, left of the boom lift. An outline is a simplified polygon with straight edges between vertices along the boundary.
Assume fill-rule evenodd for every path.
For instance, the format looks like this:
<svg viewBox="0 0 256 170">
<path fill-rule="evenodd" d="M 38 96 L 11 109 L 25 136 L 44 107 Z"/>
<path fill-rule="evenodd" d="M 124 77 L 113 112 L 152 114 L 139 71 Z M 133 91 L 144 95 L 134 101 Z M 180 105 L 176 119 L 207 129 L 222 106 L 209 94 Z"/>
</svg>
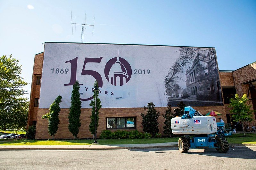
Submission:
<svg viewBox="0 0 256 170">
<path fill-rule="evenodd" d="M 100 144 L 153 144 L 165 142 L 177 142 L 178 137 L 152 138 L 152 139 L 98 139 Z M 29 140 L 29 139 L 0 139 L 0 145 L 86 145 L 92 144 L 92 139 L 77 140 Z"/>
</svg>

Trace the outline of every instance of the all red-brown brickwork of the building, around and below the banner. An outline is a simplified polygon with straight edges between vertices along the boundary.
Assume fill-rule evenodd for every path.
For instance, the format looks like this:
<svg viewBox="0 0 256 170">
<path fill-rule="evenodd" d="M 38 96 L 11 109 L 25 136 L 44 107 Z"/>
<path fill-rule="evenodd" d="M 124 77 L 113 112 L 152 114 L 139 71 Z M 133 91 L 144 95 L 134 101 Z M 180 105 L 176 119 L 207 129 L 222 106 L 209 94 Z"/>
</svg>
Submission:
<svg viewBox="0 0 256 170">
<path fill-rule="evenodd" d="M 28 119 L 28 126 L 33 124 L 33 121 L 36 121 L 36 138 L 37 139 L 47 139 L 51 138 L 48 134 L 47 126 L 48 122 L 45 119 L 42 119 L 42 115 L 49 112 L 49 109 L 38 109 L 38 107 L 34 107 L 35 98 L 39 98 L 40 100 L 40 85 L 37 84 L 37 76 L 41 76 L 42 74 L 42 66 L 43 66 L 43 55 L 44 53 L 39 53 L 35 55 L 35 62 L 34 62 L 34 69 L 32 75 L 32 83 L 31 83 L 31 94 L 30 94 L 30 103 L 29 103 L 29 119 Z M 244 68 L 235 70 L 233 72 L 220 72 L 220 79 L 222 86 L 235 86 L 236 92 L 239 95 L 244 93 L 247 94 L 248 92 L 248 85 L 243 85 L 246 79 L 250 79 L 250 74 L 252 76 L 256 75 L 256 63 L 252 65 L 248 65 Z M 234 78 L 233 78 L 234 77 Z M 252 105 L 252 101 L 248 102 Z M 222 113 L 221 117 L 224 122 L 227 122 L 226 114 L 229 114 L 230 108 L 227 107 L 227 104 L 224 106 L 212 106 L 212 107 L 193 107 L 195 110 L 200 111 L 202 114 L 206 114 L 212 110 L 218 111 Z M 174 108 L 173 108 L 174 109 Z M 164 114 L 166 107 L 156 107 L 156 110 L 160 112 L 160 114 Z M 72 134 L 69 132 L 68 129 L 68 112 L 69 109 L 61 109 L 59 114 L 60 116 L 60 124 L 57 134 L 55 138 L 73 138 Z M 98 127 L 98 134 L 100 135 L 101 131 L 106 129 L 106 118 L 107 117 L 136 117 L 136 129 L 138 131 L 143 131 L 143 127 L 141 125 L 142 117 L 141 113 L 146 113 L 143 108 L 101 108 L 100 110 L 100 120 L 99 120 L 99 127 Z M 87 138 L 92 137 L 89 131 L 89 123 L 90 123 L 90 115 L 91 109 L 90 108 L 82 108 L 81 109 L 81 127 L 79 130 L 78 138 Z M 252 123 L 249 123 L 251 126 L 255 124 L 255 117 Z M 159 119 L 159 132 L 163 134 L 163 122 L 164 119 L 162 115 L 160 115 Z M 114 130 L 112 130 L 114 131 Z"/>
</svg>

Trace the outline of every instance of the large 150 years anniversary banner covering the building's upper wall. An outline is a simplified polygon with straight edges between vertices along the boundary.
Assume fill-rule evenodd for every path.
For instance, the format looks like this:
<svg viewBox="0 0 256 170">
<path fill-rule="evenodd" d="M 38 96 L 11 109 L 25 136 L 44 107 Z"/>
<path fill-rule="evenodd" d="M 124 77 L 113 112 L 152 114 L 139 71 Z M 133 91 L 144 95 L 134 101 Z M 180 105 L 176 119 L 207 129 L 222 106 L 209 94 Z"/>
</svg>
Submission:
<svg viewBox="0 0 256 170">
<path fill-rule="evenodd" d="M 82 108 L 95 80 L 105 108 L 223 105 L 215 48 L 46 42 L 39 108 L 69 108 L 76 80 Z"/>
</svg>

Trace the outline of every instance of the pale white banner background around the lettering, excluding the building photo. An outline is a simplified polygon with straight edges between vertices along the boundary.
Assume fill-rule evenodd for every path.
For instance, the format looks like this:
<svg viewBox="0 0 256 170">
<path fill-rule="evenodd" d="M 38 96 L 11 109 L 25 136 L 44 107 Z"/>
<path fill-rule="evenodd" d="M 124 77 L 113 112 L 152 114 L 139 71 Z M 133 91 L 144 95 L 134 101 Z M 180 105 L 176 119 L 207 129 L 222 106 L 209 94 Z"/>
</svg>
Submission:
<svg viewBox="0 0 256 170">
<path fill-rule="evenodd" d="M 118 51 L 119 57 L 128 61 L 132 69 L 130 80 L 122 86 L 112 85 L 104 75 L 106 63 L 117 57 Z M 102 77 L 103 87 L 99 88 L 102 107 L 144 107 L 149 102 L 153 102 L 156 107 L 166 107 L 164 80 L 178 56 L 179 47 L 170 46 L 45 43 L 39 108 L 49 108 L 58 95 L 62 96 L 61 108 L 70 107 L 72 85 L 64 84 L 70 82 L 71 64 L 65 62 L 76 57 L 77 80 L 83 84 L 80 86 L 80 93 L 83 93 L 80 98 L 93 95 L 95 82 L 93 76 L 81 75 L 85 57 L 103 57 L 100 63 L 86 63 L 85 66 L 85 70 L 97 71 Z M 69 71 L 56 74 L 56 68 Z M 143 71 L 142 74 L 134 74 L 135 69 L 145 70 L 145 74 Z M 150 73 L 147 74 L 146 70 L 150 70 Z M 82 101 L 82 108 L 90 108 L 89 103 Z"/>
</svg>

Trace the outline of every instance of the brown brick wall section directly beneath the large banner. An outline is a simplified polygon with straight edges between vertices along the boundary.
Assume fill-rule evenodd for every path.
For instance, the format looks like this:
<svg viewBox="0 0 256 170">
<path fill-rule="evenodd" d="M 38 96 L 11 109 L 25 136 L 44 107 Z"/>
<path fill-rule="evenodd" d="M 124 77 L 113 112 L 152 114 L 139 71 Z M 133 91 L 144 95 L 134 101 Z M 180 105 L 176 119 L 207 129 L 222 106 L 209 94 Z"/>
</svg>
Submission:
<svg viewBox="0 0 256 170">
<path fill-rule="evenodd" d="M 173 107 L 174 109 L 175 107 Z M 218 111 L 220 113 L 225 113 L 225 107 L 224 106 L 213 106 L 213 107 L 193 107 L 194 109 L 198 110 L 202 114 L 206 114 L 212 110 Z M 164 114 L 164 111 L 167 109 L 167 107 L 156 107 L 156 110 L 160 112 L 160 117 L 158 119 L 159 122 L 159 133 L 163 134 L 163 122 L 164 118 L 161 114 Z M 37 131 L 36 131 L 36 138 L 37 139 L 50 139 L 52 138 L 48 134 L 47 126 L 48 121 L 45 119 L 42 119 L 42 115 L 49 112 L 49 109 L 38 109 L 37 114 Z M 69 109 L 61 109 L 61 112 L 59 114 L 60 117 L 60 124 L 58 132 L 55 135 L 55 138 L 73 138 L 72 134 L 70 133 L 68 129 L 68 113 Z M 102 130 L 106 129 L 106 118 L 107 117 L 136 117 L 136 129 L 140 132 L 143 131 L 143 127 L 141 125 L 142 117 L 141 113 L 146 113 L 146 110 L 143 108 L 101 108 L 100 109 L 100 120 L 99 120 L 99 126 L 97 129 L 97 137 L 99 137 Z M 79 130 L 78 138 L 87 138 L 92 137 L 90 131 L 89 131 L 89 123 L 90 123 L 90 115 L 91 115 L 91 108 L 82 108 L 81 109 L 81 127 Z M 224 121 L 226 120 L 225 115 L 221 115 L 219 117 L 222 117 Z M 111 130 L 111 131 L 115 131 Z M 122 130 L 122 129 L 121 129 Z M 129 129 L 132 130 L 132 129 Z"/>
</svg>

